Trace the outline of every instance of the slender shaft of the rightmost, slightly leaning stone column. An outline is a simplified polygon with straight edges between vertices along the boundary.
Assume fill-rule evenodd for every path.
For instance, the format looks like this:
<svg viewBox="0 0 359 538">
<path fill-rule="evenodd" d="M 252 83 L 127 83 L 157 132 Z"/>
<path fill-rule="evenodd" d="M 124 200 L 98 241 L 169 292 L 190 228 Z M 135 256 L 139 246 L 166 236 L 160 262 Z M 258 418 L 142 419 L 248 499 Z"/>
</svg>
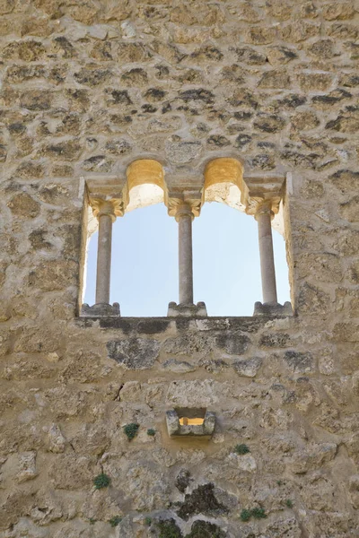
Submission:
<svg viewBox="0 0 359 538">
<path fill-rule="evenodd" d="M 273 253 L 271 211 L 269 207 L 258 210 L 258 239 L 260 272 L 262 275 L 263 303 L 276 303 L 276 269 Z"/>
</svg>

